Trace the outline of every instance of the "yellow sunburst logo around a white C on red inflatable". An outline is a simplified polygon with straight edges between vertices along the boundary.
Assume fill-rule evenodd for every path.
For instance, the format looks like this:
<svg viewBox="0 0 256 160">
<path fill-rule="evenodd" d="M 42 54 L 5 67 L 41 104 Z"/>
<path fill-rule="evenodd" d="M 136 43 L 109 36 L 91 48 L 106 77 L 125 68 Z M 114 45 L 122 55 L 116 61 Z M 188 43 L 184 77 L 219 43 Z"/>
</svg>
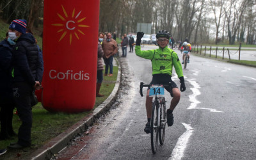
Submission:
<svg viewBox="0 0 256 160">
<path fill-rule="evenodd" d="M 63 7 L 63 5 L 61 5 L 61 7 L 63 10 L 64 16 L 60 15 L 59 13 L 57 13 L 57 15 L 58 17 L 60 17 L 61 20 L 63 20 L 63 23 L 52 24 L 52 26 L 62 26 L 62 28 L 57 31 L 57 33 L 63 32 L 62 35 L 60 36 L 59 42 L 67 35 L 67 33 L 69 33 L 69 44 L 71 45 L 72 35 L 74 34 L 74 36 L 76 36 L 76 38 L 79 40 L 79 36 L 77 35 L 77 33 L 81 33 L 82 35 L 84 35 L 83 31 L 81 31 L 81 29 L 79 28 L 88 28 L 90 26 L 79 24 L 84 19 L 86 19 L 86 17 L 82 19 L 78 19 L 82 11 L 78 12 L 77 15 L 75 16 L 75 8 L 74 8 L 72 15 L 68 17 L 68 14 L 65 8 Z"/>
</svg>

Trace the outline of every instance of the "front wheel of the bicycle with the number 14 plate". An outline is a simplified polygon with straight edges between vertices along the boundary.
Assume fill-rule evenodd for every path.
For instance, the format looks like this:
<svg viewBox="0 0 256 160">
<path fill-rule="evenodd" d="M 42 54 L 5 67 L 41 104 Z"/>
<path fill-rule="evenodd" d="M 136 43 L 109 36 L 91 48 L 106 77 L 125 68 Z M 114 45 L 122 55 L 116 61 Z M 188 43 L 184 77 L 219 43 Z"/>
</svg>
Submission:
<svg viewBox="0 0 256 160">
<path fill-rule="evenodd" d="M 151 148 L 153 154 L 156 154 L 157 144 L 158 144 L 158 110 L 156 100 L 152 104 L 152 113 L 151 113 L 151 122 L 150 122 L 150 136 L 151 136 Z"/>
</svg>

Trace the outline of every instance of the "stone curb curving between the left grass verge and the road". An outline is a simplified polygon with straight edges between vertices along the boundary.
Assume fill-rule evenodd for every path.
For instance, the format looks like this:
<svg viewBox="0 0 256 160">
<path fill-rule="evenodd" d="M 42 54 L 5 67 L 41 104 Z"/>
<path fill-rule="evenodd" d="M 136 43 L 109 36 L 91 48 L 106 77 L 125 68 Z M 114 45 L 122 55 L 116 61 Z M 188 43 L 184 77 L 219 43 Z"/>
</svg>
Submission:
<svg viewBox="0 0 256 160">
<path fill-rule="evenodd" d="M 117 58 L 116 58 L 117 59 Z M 119 63 L 119 61 L 118 61 Z M 95 122 L 100 115 L 104 114 L 108 111 L 111 105 L 115 102 L 116 97 L 118 95 L 118 91 L 120 88 L 122 70 L 121 65 L 118 65 L 118 74 L 115 83 L 115 87 L 109 97 L 102 102 L 97 108 L 95 108 L 92 113 L 86 115 L 82 120 L 77 122 L 76 124 L 72 125 L 67 131 L 62 132 L 56 138 L 53 138 L 49 143 L 46 143 L 43 147 L 38 148 L 33 154 L 29 157 L 33 160 L 43 160 L 43 159 L 50 159 L 52 155 L 57 154 L 62 150 L 64 147 L 68 145 L 68 143 L 74 139 L 77 134 L 84 132 L 90 125 Z"/>
</svg>

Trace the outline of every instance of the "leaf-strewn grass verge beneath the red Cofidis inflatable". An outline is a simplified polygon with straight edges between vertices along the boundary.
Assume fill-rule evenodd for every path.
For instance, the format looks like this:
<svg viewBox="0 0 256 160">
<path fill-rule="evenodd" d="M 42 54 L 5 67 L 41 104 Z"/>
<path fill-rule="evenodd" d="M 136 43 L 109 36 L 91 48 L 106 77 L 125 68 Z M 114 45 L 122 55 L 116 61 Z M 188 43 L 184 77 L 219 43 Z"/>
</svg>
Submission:
<svg viewBox="0 0 256 160">
<path fill-rule="evenodd" d="M 104 100 L 106 100 L 115 87 L 118 67 L 113 66 L 113 76 L 104 76 L 100 93 L 104 97 L 96 97 L 94 108 L 97 108 Z M 14 112 L 16 109 L 14 109 Z M 0 156 L 0 159 L 22 159 L 28 156 L 36 148 L 42 147 L 52 138 L 58 136 L 61 132 L 67 130 L 70 126 L 76 124 L 81 118 L 88 115 L 92 111 L 85 111 L 83 113 L 68 114 L 68 113 L 50 113 L 45 110 L 41 103 L 36 104 L 32 109 L 33 112 L 33 127 L 31 129 L 32 146 L 22 150 L 8 150 L 6 154 Z M 18 132 L 21 122 L 19 116 L 13 115 L 13 129 Z M 0 149 L 6 148 L 11 142 L 16 142 L 17 137 L 10 140 L 0 141 Z"/>
</svg>

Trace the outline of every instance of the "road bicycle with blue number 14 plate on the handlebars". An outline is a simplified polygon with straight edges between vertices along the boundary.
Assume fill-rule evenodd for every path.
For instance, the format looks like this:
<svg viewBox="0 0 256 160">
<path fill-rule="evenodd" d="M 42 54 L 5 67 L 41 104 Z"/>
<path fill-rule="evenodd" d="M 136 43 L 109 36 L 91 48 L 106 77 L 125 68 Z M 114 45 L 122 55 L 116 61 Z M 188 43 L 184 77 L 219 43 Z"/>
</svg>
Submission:
<svg viewBox="0 0 256 160">
<path fill-rule="evenodd" d="M 158 145 L 158 136 L 160 145 L 164 144 L 165 127 L 166 127 L 166 100 L 164 98 L 164 87 L 168 85 L 163 84 L 144 84 L 140 83 L 140 95 L 143 97 L 142 88 L 150 87 L 149 96 L 155 97 L 152 103 L 151 121 L 150 121 L 150 139 L 153 154 L 156 154 Z"/>
</svg>

